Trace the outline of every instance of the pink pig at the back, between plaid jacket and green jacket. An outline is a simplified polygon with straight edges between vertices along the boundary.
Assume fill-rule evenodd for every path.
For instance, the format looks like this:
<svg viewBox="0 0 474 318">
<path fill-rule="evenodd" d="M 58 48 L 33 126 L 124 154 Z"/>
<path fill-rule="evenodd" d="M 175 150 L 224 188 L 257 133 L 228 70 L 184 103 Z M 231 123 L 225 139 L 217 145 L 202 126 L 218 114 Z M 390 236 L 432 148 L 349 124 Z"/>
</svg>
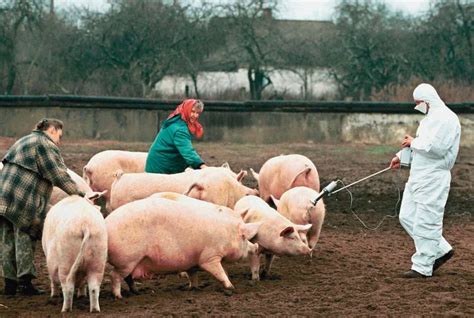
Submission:
<svg viewBox="0 0 474 318">
<path fill-rule="evenodd" d="M 114 182 L 114 173 L 117 170 L 124 172 L 144 172 L 147 152 L 124 151 L 124 150 L 105 150 L 99 152 L 89 159 L 84 166 L 82 177 L 93 191 L 102 192 L 107 190 L 104 195 L 106 209 L 110 201 L 110 188 Z"/>
</svg>

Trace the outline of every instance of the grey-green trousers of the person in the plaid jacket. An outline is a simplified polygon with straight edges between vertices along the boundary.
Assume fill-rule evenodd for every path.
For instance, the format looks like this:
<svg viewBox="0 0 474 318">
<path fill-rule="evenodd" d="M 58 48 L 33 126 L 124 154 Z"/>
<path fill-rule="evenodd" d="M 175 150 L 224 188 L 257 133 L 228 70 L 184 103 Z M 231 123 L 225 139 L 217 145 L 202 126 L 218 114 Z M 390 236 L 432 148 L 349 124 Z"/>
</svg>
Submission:
<svg viewBox="0 0 474 318">
<path fill-rule="evenodd" d="M 0 217 L 2 276 L 12 280 L 36 277 L 35 241 L 7 219 Z"/>
</svg>

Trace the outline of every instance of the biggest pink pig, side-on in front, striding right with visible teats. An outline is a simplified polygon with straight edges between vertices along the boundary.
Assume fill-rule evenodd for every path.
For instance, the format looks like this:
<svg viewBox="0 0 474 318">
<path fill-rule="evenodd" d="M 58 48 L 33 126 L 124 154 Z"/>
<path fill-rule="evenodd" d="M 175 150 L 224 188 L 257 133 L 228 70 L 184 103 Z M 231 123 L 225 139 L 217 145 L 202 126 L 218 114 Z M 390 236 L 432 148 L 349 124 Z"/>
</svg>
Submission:
<svg viewBox="0 0 474 318">
<path fill-rule="evenodd" d="M 128 275 L 145 279 L 186 271 L 193 281 L 196 267 L 232 289 L 221 261 L 246 257 L 248 240 L 259 226 L 226 213 L 153 197 L 118 208 L 105 222 L 116 298 L 121 298 L 120 282 Z"/>
</svg>

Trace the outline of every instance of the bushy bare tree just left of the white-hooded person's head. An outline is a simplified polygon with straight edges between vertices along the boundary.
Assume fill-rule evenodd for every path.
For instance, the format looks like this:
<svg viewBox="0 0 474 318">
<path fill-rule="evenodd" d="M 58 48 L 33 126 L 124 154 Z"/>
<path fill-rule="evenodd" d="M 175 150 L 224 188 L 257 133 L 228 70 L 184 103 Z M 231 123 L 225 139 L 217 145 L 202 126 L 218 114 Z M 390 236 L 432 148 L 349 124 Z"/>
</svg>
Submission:
<svg viewBox="0 0 474 318">
<path fill-rule="evenodd" d="M 410 23 L 391 14 L 384 4 L 342 1 L 336 26 L 324 58 L 342 96 L 367 100 L 387 85 L 399 83 L 409 71 L 403 48 Z"/>
</svg>

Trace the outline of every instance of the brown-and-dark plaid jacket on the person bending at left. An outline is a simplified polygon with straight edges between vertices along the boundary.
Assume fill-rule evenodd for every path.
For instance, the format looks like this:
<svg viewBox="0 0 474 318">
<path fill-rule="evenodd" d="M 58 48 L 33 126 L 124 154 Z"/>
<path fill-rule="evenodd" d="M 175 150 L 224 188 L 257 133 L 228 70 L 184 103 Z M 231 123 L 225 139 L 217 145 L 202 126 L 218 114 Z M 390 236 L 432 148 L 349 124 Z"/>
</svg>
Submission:
<svg viewBox="0 0 474 318">
<path fill-rule="evenodd" d="M 84 195 L 67 173 L 58 147 L 42 131 L 19 139 L 2 160 L 0 216 L 39 239 L 53 186 Z"/>
</svg>

